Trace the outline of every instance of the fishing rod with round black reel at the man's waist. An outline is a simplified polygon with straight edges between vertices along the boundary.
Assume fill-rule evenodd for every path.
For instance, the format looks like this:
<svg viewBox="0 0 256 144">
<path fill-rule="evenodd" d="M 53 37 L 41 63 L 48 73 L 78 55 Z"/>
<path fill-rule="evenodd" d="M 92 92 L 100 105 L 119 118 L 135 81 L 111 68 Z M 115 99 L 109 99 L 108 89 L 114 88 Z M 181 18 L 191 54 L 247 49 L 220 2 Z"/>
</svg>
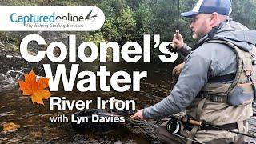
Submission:
<svg viewBox="0 0 256 144">
<path fill-rule="evenodd" d="M 255 135 L 252 135 L 252 134 L 245 134 L 245 133 L 240 133 L 238 131 L 234 131 L 234 130 L 226 130 L 226 129 L 223 129 L 219 126 L 214 126 L 214 125 L 210 125 L 206 122 L 198 122 L 192 118 L 185 118 L 185 117 L 174 117 L 174 116 L 171 116 L 170 117 L 170 120 L 167 122 L 166 124 L 166 130 L 169 131 L 171 134 L 177 134 L 180 130 L 180 127 L 181 127 L 181 124 L 179 123 L 180 122 L 185 122 L 187 124 L 190 124 L 192 126 L 201 126 L 201 127 L 205 127 L 205 128 L 211 128 L 212 130 L 224 130 L 224 131 L 227 131 L 227 132 L 230 132 L 230 133 L 234 133 L 234 134 L 241 134 L 241 135 L 244 135 L 244 136 L 247 136 L 247 137 L 250 137 L 250 138 L 256 138 Z"/>
</svg>

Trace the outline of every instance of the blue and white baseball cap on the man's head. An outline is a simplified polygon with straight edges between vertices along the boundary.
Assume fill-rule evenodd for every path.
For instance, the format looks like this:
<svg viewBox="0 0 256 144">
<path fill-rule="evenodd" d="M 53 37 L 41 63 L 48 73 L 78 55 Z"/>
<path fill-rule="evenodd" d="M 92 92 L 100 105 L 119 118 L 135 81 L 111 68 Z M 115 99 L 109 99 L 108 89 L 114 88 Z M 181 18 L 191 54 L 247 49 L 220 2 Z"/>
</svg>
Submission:
<svg viewBox="0 0 256 144">
<path fill-rule="evenodd" d="M 182 13 L 186 18 L 192 18 L 195 14 L 211 14 L 217 12 L 222 15 L 231 13 L 231 0 L 199 0 L 193 10 Z"/>
</svg>

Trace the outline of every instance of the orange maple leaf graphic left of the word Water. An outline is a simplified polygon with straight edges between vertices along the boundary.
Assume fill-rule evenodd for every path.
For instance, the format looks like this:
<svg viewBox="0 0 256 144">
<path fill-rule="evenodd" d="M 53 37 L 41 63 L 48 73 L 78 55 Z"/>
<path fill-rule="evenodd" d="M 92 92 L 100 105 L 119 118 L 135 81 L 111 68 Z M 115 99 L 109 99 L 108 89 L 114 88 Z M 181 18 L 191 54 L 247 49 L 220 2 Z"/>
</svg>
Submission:
<svg viewBox="0 0 256 144">
<path fill-rule="evenodd" d="M 40 78 L 37 82 L 34 71 L 31 70 L 29 74 L 24 74 L 25 82 L 18 81 L 19 90 L 22 90 L 22 95 L 28 95 L 32 99 L 32 102 L 43 104 L 42 99 L 48 99 L 50 97 L 50 91 L 45 90 L 49 87 L 49 78 Z"/>
</svg>

